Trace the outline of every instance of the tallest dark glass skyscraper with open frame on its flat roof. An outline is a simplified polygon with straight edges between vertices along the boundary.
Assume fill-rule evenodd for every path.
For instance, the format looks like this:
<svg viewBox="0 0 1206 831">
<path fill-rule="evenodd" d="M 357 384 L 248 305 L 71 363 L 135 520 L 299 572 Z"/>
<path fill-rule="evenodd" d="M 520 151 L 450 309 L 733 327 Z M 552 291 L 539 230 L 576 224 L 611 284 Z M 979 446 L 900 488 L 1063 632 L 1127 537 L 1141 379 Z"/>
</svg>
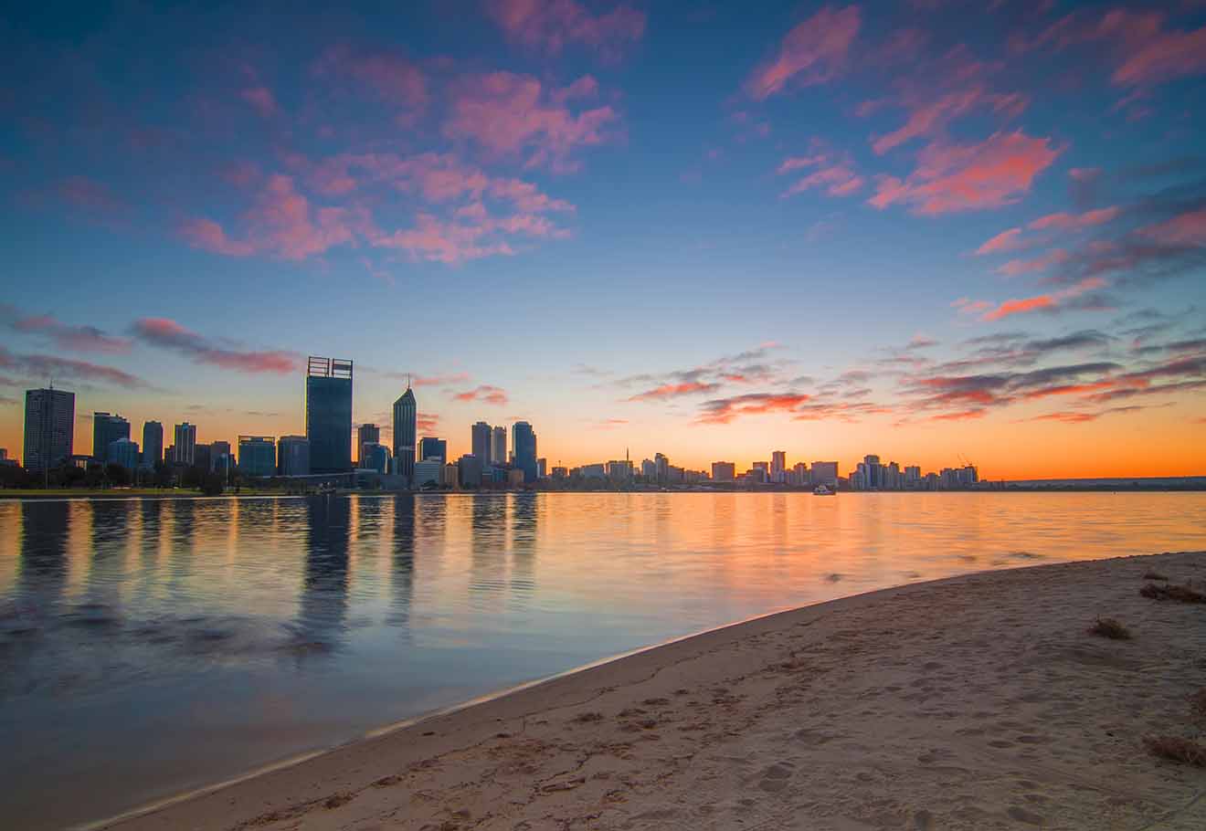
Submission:
<svg viewBox="0 0 1206 831">
<path fill-rule="evenodd" d="M 310 357 L 305 376 L 305 435 L 311 473 L 352 469 L 352 362 Z"/>
</svg>

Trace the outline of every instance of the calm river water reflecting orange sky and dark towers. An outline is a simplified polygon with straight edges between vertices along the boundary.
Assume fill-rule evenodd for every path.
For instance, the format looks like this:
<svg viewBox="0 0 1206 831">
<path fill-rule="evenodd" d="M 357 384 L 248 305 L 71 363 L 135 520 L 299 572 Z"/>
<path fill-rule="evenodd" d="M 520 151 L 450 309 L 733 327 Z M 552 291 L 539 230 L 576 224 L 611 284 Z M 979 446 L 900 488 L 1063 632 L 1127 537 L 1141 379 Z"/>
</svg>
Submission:
<svg viewBox="0 0 1206 831">
<path fill-rule="evenodd" d="M 775 609 L 1206 549 L 1204 493 L 0 503 L 0 825 L 99 819 Z"/>
</svg>

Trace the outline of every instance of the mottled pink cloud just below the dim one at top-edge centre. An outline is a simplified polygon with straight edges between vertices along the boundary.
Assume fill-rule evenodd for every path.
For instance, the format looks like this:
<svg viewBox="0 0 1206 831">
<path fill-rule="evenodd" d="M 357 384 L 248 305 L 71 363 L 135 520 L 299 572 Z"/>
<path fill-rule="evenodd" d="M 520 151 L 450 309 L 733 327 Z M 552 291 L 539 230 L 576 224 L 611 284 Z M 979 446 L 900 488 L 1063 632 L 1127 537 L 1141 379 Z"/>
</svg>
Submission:
<svg viewBox="0 0 1206 831">
<path fill-rule="evenodd" d="M 545 88 L 529 75 L 511 72 L 468 80 L 452 98 L 444 135 L 472 139 L 494 156 L 526 156 L 529 168 L 576 170 L 579 164 L 569 159 L 570 153 L 603 144 L 605 128 L 619 118 L 610 106 L 579 112 L 569 109 L 570 98 L 584 95 L 593 86 L 582 81 L 557 89 Z"/>
</svg>

